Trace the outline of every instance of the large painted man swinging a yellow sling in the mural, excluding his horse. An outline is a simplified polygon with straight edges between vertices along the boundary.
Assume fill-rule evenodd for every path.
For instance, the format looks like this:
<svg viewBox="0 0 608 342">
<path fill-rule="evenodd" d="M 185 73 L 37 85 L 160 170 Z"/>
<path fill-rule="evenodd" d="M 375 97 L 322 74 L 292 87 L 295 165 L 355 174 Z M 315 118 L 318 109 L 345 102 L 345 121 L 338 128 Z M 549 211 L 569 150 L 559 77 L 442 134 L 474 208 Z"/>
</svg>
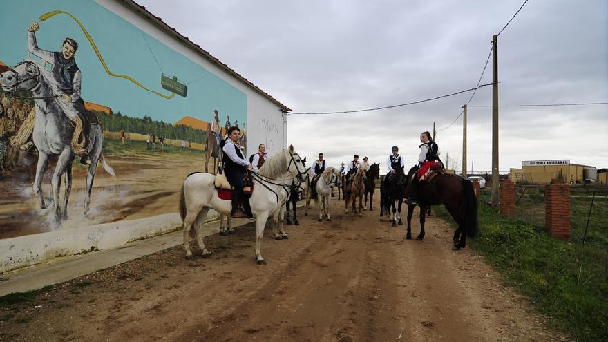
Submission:
<svg viewBox="0 0 608 342">
<path fill-rule="evenodd" d="M 89 122 L 86 117 L 86 109 L 84 101 L 80 97 L 80 88 L 82 84 L 82 75 L 78 68 L 74 56 L 78 50 L 78 43 L 71 38 L 66 38 L 61 45 L 61 51 L 47 51 L 38 48 L 36 42 L 36 31 L 40 29 L 37 22 L 30 23 L 28 28 L 28 51 L 51 65 L 51 73 L 55 81 L 57 81 L 59 101 L 61 108 L 72 122 L 75 122 L 76 117 L 80 117 L 82 121 L 82 133 L 84 135 L 84 148 L 80 155 L 80 162 L 87 164 L 88 155 L 88 133 L 90 131 Z"/>
</svg>

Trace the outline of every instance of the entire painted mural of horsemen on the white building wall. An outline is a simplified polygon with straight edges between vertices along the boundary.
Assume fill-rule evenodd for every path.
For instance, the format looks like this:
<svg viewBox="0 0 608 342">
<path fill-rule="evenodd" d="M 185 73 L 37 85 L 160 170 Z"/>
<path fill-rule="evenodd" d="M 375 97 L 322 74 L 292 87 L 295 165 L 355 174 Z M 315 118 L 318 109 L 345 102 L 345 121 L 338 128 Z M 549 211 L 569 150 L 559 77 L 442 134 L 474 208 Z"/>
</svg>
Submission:
<svg viewBox="0 0 608 342">
<path fill-rule="evenodd" d="M 0 238 L 173 213 L 227 126 L 246 146 L 245 93 L 94 1 L 0 21 Z"/>
</svg>

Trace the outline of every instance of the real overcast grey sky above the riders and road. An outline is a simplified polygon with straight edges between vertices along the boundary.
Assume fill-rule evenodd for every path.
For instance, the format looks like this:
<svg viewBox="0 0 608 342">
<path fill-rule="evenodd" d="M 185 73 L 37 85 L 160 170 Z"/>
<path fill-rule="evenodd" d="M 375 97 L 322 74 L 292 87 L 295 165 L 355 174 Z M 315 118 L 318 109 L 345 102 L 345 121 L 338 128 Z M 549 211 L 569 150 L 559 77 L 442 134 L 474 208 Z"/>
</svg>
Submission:
<svg viewBox="0 0 608 342">
<path fill-rule="evenodd" d="M 497 34 L 523 0 L 137 0 L 294 112 L 415 102 L 476 86 Z M 530 0 L 498 37 L 501 105 L 608 102 L 608 1 Z M 491 61 L 482 84 L 491 82 Z M 330 164 L 417 162 L 433 131 L 462 169 L 463 93 L 363 113 L 290 115 L 288 141 Z M 491 86 L 470 105 L 489 105 Z M 490 171 L 491 108 L 468 109 L 468 171 Z M 608 105 L 500 108 L 500 171 L 522 160 L 608 167 Z"/>
</svg>

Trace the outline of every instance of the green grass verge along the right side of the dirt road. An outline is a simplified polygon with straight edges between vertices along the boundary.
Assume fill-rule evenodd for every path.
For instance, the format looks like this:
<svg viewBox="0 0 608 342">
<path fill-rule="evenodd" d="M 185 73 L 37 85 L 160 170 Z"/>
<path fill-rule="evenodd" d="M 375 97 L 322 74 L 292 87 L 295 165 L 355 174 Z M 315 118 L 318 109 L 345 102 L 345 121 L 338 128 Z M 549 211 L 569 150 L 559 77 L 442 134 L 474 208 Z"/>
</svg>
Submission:
<svg viewBox="0 0 608 342">
<path fill-rule="evenodd" d="M 556 240 L 544 231 L 544 217 L 542 225 L 505 218 L 485 204 L 489 198 L 489 191 L 483 191 L 479 201 L 479 235 L 471 239 L 471 249 L 483 254 L 505 276 L 507 285 L 527 296 L 536 310 L 548 317 L 550 327 L 579 341 L 607 341 L 608 202 L 594 204 L 595 219 L 587 234 L 587 241 L 593 243 L 583 245 L 580 237 L 584 225 L 582 229 L 573 225 L 571 242 Z M 588 199 L 590 204 L 591 198 Z M 586 200 L 587 197 L 572 201 L 572 220 L 581 221 L 584 213 L 586 224 L 589 213 Z M 544 209 L 544 204 L 541 205 Z M 453 222 L 444 207 L 437 206 L 436 212 Z"/>
</svg>

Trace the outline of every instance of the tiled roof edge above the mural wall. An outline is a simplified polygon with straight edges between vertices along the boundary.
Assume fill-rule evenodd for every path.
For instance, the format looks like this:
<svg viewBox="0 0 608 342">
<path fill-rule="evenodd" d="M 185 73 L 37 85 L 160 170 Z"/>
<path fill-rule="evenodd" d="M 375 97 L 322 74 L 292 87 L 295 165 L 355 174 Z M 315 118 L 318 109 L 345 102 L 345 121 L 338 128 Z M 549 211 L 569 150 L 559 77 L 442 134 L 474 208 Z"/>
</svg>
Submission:
<svg viewBox="0 0 608 342">
<path fill-rule="evenodd" d="M 198 44 L 195 44 L 193 41 L 188 39 L 188 37 L 185 37 L 184 35 L 182 35 L 180 32 L 175 30 L 175 28 L 172 28 L 171 26 L 167 25 L 167 23 L 162 21 L 162 19 L 160 17 L 156 17 L 149 10 L 146 10 L 146 8 L 144 6 L 141 6 L 140 4 L 136 3 L 134 0 L 121 0 L 121 1 L 123 3 L 125 3 L 127 6 L 130 6 L 131 8 L 133 8 L 133 10 L 135 10 L 135 12 L 142 14 L 144 17 L 146 17 L 147 19 L 149 19 L 150 21 L 155 23 L 156 26 L 159 26 L 162 30 L 168 32 L 170 35 L 173 35 L 178 40 L 182 41 L 184 44 L 186 44 L 187 46 L 189 46 L 190 48 L 195 50 L 197 53 L 202 55 L 202 57 L 205 57 L 205 59 L 211 61 L 212 64 L 215 64 L 221 70 L 224 70 L 229 75 L 233 76 L 234 78 L 238 79 L 240 82 L 243 82 L 245 85 L 249 86 L 249 88 L 253 89 L 254 91 L 259 93 L 263 97 L 266 97 L 271 102 L 273 102 L 277 106 L 281 107 L 281 110 L 286 111 L 286 112 L 292 111 L 291 109 L 287 108 L 287 106 L 285 106 L 285 104 L 278 102 L 277 99 L 275 99 L 274 97 L 272 97 L 271 95 L 269 95 L 268 93 L 263 91 L 262 89 L 258 88 L 258 86 L 251 83 L 248 79 L 246 79 L 245 77 L 243 77 L 242 75 L 237 73 L 235 70 L 229 68 L 229 66 L 222 63 L 222 61 L 220 61 L 216 57 L 213 57 L 207 51 L 203 50 Z"/>
</svg>

